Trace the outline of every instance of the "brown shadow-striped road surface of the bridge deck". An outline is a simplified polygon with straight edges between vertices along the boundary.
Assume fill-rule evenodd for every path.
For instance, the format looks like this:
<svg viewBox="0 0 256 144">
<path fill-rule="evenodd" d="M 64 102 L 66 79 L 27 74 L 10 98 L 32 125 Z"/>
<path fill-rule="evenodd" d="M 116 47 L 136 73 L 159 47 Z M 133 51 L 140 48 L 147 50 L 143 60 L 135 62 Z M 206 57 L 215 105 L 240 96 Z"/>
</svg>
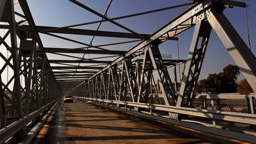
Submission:
<svg viewBox="0 0 256 144">
<path fill-rule="evenodd" d="M 132 115 L 75 101 L 61 102 L 33 143 L 234 143 L 234 140 L 209 137 L 191 129 L 166 128 Z"/>
</svg>

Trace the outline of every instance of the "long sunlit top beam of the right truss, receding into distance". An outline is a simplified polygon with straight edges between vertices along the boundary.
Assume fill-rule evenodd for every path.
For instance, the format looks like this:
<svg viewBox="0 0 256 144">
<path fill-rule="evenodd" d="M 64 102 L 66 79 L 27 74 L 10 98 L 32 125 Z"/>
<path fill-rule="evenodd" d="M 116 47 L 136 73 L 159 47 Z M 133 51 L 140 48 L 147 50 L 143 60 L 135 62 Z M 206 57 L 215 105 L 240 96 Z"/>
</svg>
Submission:
<svg viewBox="0 0 256 144">
<path fill-rule="evenodd" d="M 209 1 L 204 1 L 202 3 L 197 3 L 194 6 L 191 6 L 191 8 L 181 13 L 175 19 L 168 22 L 168 24 L 166 24 L 163 28 L 156 31 L 156 33 L 148 36 L 148 38 L 140 42 L 140 44 L 136 45 L 129 51 L 125 52 L 125 54 L 123 54 L 122 56 L 116 58 L 116 60 L 114 60 L 111 64 L 102 68 L 102 70 L 94 74 L 92 77 L 97 76 L 98 74 L 100 74 L 100 72 L 107 70 L 109 67 L 112 67 L 116 63 L 124 60 L 125 58 L 131 55 L 138 56 L 140 54 L 143 54 L 143 48 L 149 45 L 154 40 L 157 40 L 162 37 L 160 40 L 164 42 L 165 40 L 168 40 L 168 38 L 172 38 L 176 35 L 179 35 L 179 33 L 182 33 L 186 29 L 195 26 L 196 21 L 200 19 L 198 15 L 204 15 L 204 13 L 209 9 L 211 9 L 211 3 L 209 3 Z"/>
</svg>

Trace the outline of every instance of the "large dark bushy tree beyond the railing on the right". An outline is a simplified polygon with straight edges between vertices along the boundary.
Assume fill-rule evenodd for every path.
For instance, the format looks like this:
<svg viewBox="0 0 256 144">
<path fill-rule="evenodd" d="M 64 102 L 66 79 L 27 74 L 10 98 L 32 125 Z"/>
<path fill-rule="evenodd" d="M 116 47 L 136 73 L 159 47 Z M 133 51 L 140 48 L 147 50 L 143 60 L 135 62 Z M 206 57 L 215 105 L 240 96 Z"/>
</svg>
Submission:
<svg viewBox="0 0 256 144">
<path fill-rule="evenodd" d="M 235 65 L 227 65 L 219 74 L 209 74 L 206 79 L 198 82 L 199 88 L 215 88 L 217 93 L 234 93 L 237 88 L 239 68 Z"/>
</svg>

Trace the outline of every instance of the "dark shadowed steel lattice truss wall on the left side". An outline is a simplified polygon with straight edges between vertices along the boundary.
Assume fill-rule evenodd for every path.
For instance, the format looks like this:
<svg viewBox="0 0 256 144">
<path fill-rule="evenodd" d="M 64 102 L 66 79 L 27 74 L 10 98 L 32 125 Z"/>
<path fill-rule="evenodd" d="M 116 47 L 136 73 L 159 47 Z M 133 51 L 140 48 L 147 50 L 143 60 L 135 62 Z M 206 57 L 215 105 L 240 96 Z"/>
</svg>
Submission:
<svg viewBox="0 0 256 144">
<path fill-rule="evenodd" d="M 14 11 L 13 1 L 1 1 L 0 17 L 4 23 L 1 23 L 1 29 L 6 29 L 1 31 L 0 44 L 7 51 L 7 54 L 4 54 L 1 47 L 0 58 L 3 65 L 0 71 L 0 126 L 3 129 L 18 120 L 19 127 L 10 131 L 12 134 L 19 131 L 18 138 L 27 131 L 26 125 L 31 120 L 40 118 L 61 96 L 43 47 L 36 46 L 42 45 L 40 37 L 36 35 L 35 29 L 25 31 L 19 28 L 19 24 L 24 21 L 27 21 L 31 28 L 35 28 L 26 2 L 20 1 L 20 6 L 24 15 Z M 23 20 L 17 21 L 16 14 Z M 1 143 L 4 140 L 1 138 Z"/>
</svg>

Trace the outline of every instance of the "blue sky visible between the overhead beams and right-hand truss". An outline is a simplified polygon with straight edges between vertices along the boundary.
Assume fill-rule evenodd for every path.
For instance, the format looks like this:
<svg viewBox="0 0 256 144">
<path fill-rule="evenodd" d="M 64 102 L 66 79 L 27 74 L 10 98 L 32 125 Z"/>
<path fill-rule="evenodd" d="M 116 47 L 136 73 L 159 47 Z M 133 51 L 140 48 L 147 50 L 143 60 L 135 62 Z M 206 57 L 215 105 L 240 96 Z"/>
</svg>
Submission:
<svg viewBox="0 0 256 144">
<path fill-rule="evenodd" d="M 242 1 L 242 0 L 241 0 Z M 93 10 L 99 13 L 104 13 L 106 6 L 108 5 L 108 0 L 89 0 L 80 1 L 81 3 L 89 6 Z M 145 12 L 148 10 L 156 10 L 158 8 L 165 8 L 168 6 L 175 6 L 177 4 L 189 3 L 189 0 L 182 1 L 153 1 L 153 0 L 113 0 L 107 16 L 109 18 L 120 17 L 122 15 L 129 15 L 132 13 Z M 252 52 L 256 52 L 256 1 L 255 0 L 244 0 L 248 4 L 248 26 L 250 29 L 250 40 Z M 90 22 L 94 20 L 100 20 L 93 13 L 87 12 L 83 8 L 79 8 L 74 3 L 65 0 L 29 0 L 28 1 L 33 18 L 36 25 L 41 26 L 68 26 L 72 24 Z M 179 15 L 181 12 L 186 10 L 189 6 L 184 6 L 182 8 L 175 8 L 172 10 L 166 10 L 163 12 L 150 13 L 143 16 L 132 17 L 128 19 L 116 20 L 120 24 L 123 24 L 127 28 L 130 28 L 138 33 L 152 34 L 157 29 L 161 28 L 172 20 L 175 16 Z M 248 33 L 246 28 L 246 17 L 244 8 L 227 8 L 224 11 L 228 20 L 236 28 L 237 32 L 241 35 L 244 42 L 248 44 Z M 97 24 L 91 24 L 86 26 L 79 26 L 77 28 L 84 29 L 96 29 Z M 125 29 L 118 28 L 110 22 L 103 22 L 100 26 L 102 31 L 120 31 L 127 32 Z M 179 45 L 179 57 L 180 59 L 186 59 L 188 56 L 189 45 L 192 38 L 193 28 L 184 31 L 178 35 L 179 41 L 169 41 L 161 44 L 160 50 L 162 54 L 172 54 L 173 59 L 178 58 L 177 47 Z M 64 36 L 64 35 L 63 35 Z M 76 40 L 83 41 L 85 43 L 90 42 L 92 36 L 76 36 L 71 35 L 70 37 L 76 38 Z M 120 38 L 100 38 L 97 37 L 93 41 L 94 45 L 107 44 L 108 42 L 119 42 Z M 42 35 L 42 41 L 45 47 L 81 47 L 79 44 L 73 44 L 70 42 L 64 42 L 63 40 L 58 40 L 57 38 L 52 38 L 51 36 Z M 124 47 L 106 47 L 108 49 L 118 49 L 118 50 L 128 50 L 131 49 L 134 44 L 125 45 Z M 80 55 L 79 55 L 80 56 Z M 51 58 L 51 55 L 49 55 Z M 89 56 L 90 57 L 90 56 Z M 200 79 L 206 78 L 209 74 L 218 73 L 222 71 L 222 68 L 228 64 L 234 64 L 232 58 L 229 56 L 227 50 L 221 43 L 220 39 L 214 31 L 211 33 L 209 45 L 207 47 L 207 52 L 205 56 L 205 61 L 202 67 L 202 72 Z"/>
</svg>

